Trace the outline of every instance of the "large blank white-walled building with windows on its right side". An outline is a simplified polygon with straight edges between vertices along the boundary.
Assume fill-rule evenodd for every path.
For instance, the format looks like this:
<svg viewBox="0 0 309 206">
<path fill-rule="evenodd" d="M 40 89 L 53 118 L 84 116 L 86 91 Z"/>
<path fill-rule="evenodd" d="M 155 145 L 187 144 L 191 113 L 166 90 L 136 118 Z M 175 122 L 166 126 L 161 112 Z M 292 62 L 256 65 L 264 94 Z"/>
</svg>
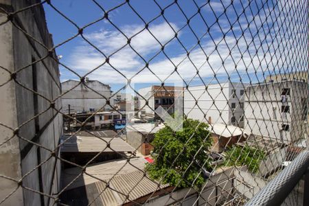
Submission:
<svg viewBox="0 0 309 206">
<path fill-rule="evenodd" d="M 184 92 L 183 111 L 192 119 L 208 124 L 244 126 L 244 86 L 225 82 L 188 87 Z"/>
</svg>

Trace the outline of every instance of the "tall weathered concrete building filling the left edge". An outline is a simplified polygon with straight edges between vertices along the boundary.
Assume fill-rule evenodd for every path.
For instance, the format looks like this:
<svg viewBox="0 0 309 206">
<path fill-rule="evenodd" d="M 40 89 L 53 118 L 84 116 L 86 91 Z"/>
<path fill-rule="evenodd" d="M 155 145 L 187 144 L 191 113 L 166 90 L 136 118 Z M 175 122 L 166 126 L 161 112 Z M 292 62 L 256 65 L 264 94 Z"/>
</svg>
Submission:
<svg viewBox="0 0 309 206">
<path fill-rule="evenodd" d="M 55 52 L 33 40 L 47 48 L 54 47 L 43 5 L 36 3 L 0 1 L 1 201 L 6 197 L 3 205 L 52 205 L 54 199 L 49 196 L 56 198 L 60 191 L 60 161 L 56 158 L 56 145 L 62 136 L 60 72 Z M 15 25 L 8 21 L 4 10 L 20 11 L 14 14 Z M 56 101 L 51 104 L 47 100 Z M 18 183 L 21 179 L 22 187 Z"/>
</svg>

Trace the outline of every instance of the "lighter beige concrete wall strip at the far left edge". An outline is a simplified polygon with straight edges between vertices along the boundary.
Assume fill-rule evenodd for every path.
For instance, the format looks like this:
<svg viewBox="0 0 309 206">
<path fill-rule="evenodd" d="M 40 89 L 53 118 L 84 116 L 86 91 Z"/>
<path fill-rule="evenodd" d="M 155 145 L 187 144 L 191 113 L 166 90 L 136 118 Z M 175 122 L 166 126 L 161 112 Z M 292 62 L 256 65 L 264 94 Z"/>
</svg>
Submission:
<svg viewBox="0 0 309 206">
<path fill-rule="evenodd" d="M 0 3 L 5 3 L 0 1 Z M 6 15 L 0 11 L 0 22 L 6 20 Z M 14 54 L 13 54 L 12 23 L 5 23 L 0 26 L 0 65 L 10 72 L 14 72 Z M 0 69 L 0 84 L 10 80 L 10 73 Z M 0 87 L 1 115 L 0 122 L 10 128 L 17 127 L 16 119 L 16 96 L 14 95 L 15 84 L 10 81 Z M 19 138 L 14 135 L 13 130 L 0 125 L 0 174 L 12 179 L 21 178 L 21 165 L 19 155 Z M 12 137 L 12 138 L 11 138 Z M 4 166 L 5 165 L 5 166 Z M 10 192 L 18 187 L 14 181 L 1 178 L 0 201 Z M 6 205 L 23 205 L 23 191 L 19 188 L 3 204 Z"/>
</svg>

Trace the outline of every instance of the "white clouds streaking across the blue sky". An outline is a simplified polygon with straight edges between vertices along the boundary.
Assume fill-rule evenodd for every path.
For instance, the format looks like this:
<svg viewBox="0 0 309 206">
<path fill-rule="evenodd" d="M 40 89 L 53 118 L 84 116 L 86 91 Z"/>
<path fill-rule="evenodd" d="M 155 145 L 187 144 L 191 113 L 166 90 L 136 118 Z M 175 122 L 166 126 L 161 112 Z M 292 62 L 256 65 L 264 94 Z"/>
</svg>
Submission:
<svg viewBox="0 0 309 206">
<path fill-rule="evenodd" d="M 216 5 L 216 2 L 214 2 L 214 7 L 216 6 L 219 5 Z M 226 36 L 225 41 L 222 41 L 221 35 L 214 36 L 214 41 L 217 45 L 216 51 L 214 51 L 215 45 L 212 41 L 206 41 L 202 44 L 203 50 L 209 57 L 209 60 L 207 60 L 203 50 L 199 47 L 196 47 L 190 52 L 190 59 L 192 62 L 187 58 L 186 54 L 181 51 L 178 53 L 175 51 L 174 56 L 170 57 L 170 60 L 172 60 L 174 65 L 177 66 L 177 71 L 181 77 L 187 81 L 196 76 L 196 68 L 199 70 L 199 75 L 202 78 L 214 77 L 214 73 L 218 76 L 227 76 L 227 74 L 235 73 L 236 65 L 237 71 L 240 72 L 240 76 L 248 76 L 247 73 L 255 73 L 256 69 L 261 73 L 268 70 L 273 71 L 274 69 L 284 69 L 284 67 L 287 67 L 285 62 L 286 58 L 290 57 L 290 61 L 297 62 L 298 57 L 293 56 L 292 59 L 291 55 L 293 53 L 289 53 L 289 51 L 297 52 L 297 50 L 300 51 L 299 49 L 301 49 L 299 45 L 295 45 L 297 41 L 290 43 L 290 38 L 304 38 L 306 31 L 304 34 L 297 33 L 299 36 L 284 36 L 284 33 L 289 34 L 286 32 L 289 28 L 284 28 L 284 30 L 279 32 L 278 25 L 273 25 L 269 28 L 265 23 L 262 25 L 266 20 L 266 16 L 271 11 L 265 10 L 265 12 L 265 14 L 264 12 L 260 14 L 260 18 L 255 18 L 255 21 L 250 23 L 250 25 L 247 24 L 247 21 L 240 19 L 241 28 L 237 27 L 236 30 L 238 30 L 238 32 L 239 30 L 247 30 L 244 33 L 244 36 L 238 40 L 237 46 L 236 38 L 230 32 L 229 35 Z M 272 11 L 271 15 L 274 19 L 275 16 L 273 12 L 274 11 Z M 253 16 L 247 16 L 247 18 L 249 18 L 250 22 L 253 19 Z M 268 17 L 267 23 L 272 23 L 271 21 L 273 21 L 273 19 Z M 220 23 L 224 24 L 223 21 Z M 278 23 L 280 24 L 281 21 L 277 20 L 277 24 Z M 293 25 L 291 25 L 291 27 L 292 26 Z M 176 24 L 172 24 L 172 27 L 174 27 L 174 30 L 179 29 Z M 306 29 L 306 27 L 304 28 Z M 161 46 L 155 38 L 144 29 L 144 25 L 126 25 L 120 29 L 129 38 L 139 33 L 132 38 L 130 45 L 141 54 L 143 58 L 146 58 L 146 60 L 154 56 L 156 52 L 160 51 Z M 149 30 L 162 44 L 167 43 L 174 37 L 174 32 L 167 23 L 150 25 Z M 238 35 L 238 38 L 239 36 L 241 35 Z M 106 56 L 113 54 L 117 49 L 126 45 L 127 42 L 127 39 L 116 30 L 102 29 L 98 32 L 85 34 L 85 37 L 89 39 L 93 45 L 98 47 L 100 51 L 106 54 Z M 274 38 L 275 41 L 273 41 Z M 288 49 L 283 49 L 287 44 L 289 44 Z M 249 48 L 247 49 L 248 45 Z M 232 49 L 231 54 L 229 49 Z M 280 54 L 282 55 L 282 58 L 279 58 Z M 149 68 L 161 80 L 165 80 L 165 78 L 168 78 L 168 76 L 174 71 L 174 65 L 172 65 L 170 60 L 167 58 L 157 58 L 150 62 Z M 222 65 L 222 60 L 225 61 L 225 67 Z M 73 53 L 71 54 L 67 65 L 78 73 L 84 74 L 95 67 L 102 65 L 104 61 L 105 58 L 100 52 L 96 51 L 87 43 L 82 43 L 73 49 Z M 117 71 L 109 65 L 103 65 L 90 73 L 89 78 L 100 80 L 108 84 L 125 83 L 125 78 L 122 75 L 131 78 L 145 66 L 144 61 L 137 56 L 128 45 L 119 50 L 119 52 L 113 54 L 110 58 L 110 63 L 115 69 L 117 69 Z M 245 71 L 247 71 L 247 73 Z M 179 80 L 179 76 L 174 73 L 174 75 L 168 78 L 168 80 Z M 141 71 L 139 75 L 133 78 L 133 81 L 159 82 L 157 77 L 148 69 Z"/>
</svg>

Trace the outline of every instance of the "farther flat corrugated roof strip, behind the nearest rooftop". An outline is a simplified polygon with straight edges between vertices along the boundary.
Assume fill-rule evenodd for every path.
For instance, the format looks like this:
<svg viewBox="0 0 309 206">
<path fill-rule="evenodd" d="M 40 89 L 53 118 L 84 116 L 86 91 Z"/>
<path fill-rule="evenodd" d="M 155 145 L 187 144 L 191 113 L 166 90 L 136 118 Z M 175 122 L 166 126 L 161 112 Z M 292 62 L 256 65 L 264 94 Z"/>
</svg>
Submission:
<svg viewBox="0 0 309 206">
<path fill-rule="evenodd" d="M 65 140 L 64 137 L 62 140 Z M 106 147 L 107 144 L 109 147 Z M 112 150 L 113 149 L 113 150 Z M 135 149 L 120 137 L 86 137 L 76 136 L 65 141 L 60 152 L 133 152 Z"/>
</svg>

